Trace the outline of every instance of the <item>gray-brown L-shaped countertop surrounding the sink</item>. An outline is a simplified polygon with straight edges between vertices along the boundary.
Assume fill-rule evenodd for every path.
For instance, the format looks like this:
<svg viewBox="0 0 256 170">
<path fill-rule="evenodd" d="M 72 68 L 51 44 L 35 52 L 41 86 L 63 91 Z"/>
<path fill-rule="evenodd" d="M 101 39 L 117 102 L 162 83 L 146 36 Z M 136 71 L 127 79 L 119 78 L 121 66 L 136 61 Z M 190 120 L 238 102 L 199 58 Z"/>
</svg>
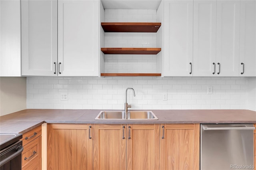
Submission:
<svg viewBox="0 0 256 170">
<path fill-rule="evenodd" d="M 26 109 L 0 117 L 0 133 L 25 133 L 42 123 L 256 123 L 250 110 L 152 110 L 158 120 L 94 120 L 101 110 Z"/>
</svg>

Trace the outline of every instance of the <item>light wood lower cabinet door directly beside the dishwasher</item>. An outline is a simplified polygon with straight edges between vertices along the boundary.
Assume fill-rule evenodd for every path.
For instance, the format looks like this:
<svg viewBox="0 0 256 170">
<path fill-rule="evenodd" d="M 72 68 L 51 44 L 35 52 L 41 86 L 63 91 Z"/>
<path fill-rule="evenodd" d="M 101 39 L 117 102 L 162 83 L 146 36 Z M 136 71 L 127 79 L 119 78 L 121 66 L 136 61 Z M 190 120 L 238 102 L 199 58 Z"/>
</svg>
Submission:
<svg viewBox="0 0 256 170">
<path fill-rule="evenodd" d="M 160 125 L 160 170 L 198 170 L 200 125 Z"/>
</svg>

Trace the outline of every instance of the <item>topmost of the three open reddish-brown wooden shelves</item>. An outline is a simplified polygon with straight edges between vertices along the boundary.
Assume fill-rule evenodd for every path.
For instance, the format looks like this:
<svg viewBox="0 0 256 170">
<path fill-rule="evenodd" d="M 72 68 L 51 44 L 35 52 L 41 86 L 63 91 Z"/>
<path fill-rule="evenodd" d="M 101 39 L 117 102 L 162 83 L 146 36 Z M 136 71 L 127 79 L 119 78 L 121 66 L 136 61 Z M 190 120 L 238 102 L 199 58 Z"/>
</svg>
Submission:
<svg viewBox="0 0 256 170">
<path fill-rule="evenodd" d="M 104 32 L 157 32 L 160 22 L 102 22 Z"/>
</svg>

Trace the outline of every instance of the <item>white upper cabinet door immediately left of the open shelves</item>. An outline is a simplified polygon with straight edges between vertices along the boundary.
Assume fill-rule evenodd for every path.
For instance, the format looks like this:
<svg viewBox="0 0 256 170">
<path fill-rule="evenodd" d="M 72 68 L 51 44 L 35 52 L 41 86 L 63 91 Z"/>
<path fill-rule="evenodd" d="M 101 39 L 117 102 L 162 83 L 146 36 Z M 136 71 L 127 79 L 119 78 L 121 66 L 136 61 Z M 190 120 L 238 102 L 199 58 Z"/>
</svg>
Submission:
<svg viewBox="0 0 256 170">
<path fill-rule="evenodd" d="M 99 1 L 58 1 L 59 76 L 98 76 Z"/>
</svg>

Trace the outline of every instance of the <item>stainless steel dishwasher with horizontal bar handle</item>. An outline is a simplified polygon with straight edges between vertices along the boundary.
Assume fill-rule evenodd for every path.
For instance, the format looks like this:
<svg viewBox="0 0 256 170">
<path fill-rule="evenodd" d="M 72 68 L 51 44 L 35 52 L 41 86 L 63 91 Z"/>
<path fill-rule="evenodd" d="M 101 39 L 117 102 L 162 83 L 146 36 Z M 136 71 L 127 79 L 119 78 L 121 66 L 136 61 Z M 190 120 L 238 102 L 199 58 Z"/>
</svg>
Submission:
<svg viewBox="0 0 256 170">
<path fill-rule="evenodd" d="M 200 169 L 254 169 L 253 125 L 201 124 Z"/>
</svg>

